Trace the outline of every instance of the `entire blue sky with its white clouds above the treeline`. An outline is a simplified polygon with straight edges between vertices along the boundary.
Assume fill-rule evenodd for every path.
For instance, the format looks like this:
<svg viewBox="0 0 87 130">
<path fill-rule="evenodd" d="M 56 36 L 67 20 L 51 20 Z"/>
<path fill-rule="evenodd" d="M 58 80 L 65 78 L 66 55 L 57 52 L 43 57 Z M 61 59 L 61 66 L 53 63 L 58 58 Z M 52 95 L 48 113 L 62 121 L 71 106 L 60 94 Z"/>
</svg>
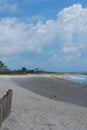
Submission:
<svg viewBox="0 0 87 130">
<path fill-rule="evenodd" d="M 11 69 L 87 72 L 87 1 L 0 0 L 0 60 Z"/>
</svg>

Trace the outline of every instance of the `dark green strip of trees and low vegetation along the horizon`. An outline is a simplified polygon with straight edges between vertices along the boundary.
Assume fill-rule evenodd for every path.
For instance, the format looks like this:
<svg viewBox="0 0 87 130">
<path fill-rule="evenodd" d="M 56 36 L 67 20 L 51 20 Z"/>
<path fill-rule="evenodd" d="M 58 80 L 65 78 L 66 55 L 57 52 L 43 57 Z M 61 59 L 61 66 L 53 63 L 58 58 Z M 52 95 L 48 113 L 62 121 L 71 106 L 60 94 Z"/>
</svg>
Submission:
<svg viewBox="0 0 87 130">
<path fill-rule="evenodd" d="M 50 71 L 44 71 L 44 70 L 41 70 L 39 68 L 35 68 L 35 69 L 32 69 L 32 70 L 29 70 L 27 69 L 26 67 L 22 67 L 21 69 L 14 69 L 14 70 L 11 70 L 7 67 L 7 65 L 5 65 L 5 63 L 3 63 L 2 61 L 0 61 L 0 74 L 8 74 L 8 75 L 21 75 L 21 74 L 28 74 L 28 73 L 31 73 L 31 74 L 40 74 L 40 73 L 43 73 L 43 74 L 83 74 L 83 75 L 87 75 L 87 72 L 50 72 Z"/>
</svg>

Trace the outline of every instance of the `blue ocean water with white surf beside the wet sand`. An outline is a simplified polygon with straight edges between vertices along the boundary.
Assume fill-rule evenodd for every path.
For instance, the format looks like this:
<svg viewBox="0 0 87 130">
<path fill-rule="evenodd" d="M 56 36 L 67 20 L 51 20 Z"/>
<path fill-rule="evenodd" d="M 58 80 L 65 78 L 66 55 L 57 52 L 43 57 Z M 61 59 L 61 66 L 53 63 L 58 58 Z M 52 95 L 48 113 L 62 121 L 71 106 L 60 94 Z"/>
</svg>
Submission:
<svg viewBox="0 0 87 130">
<path fill-rule="evenodd" d="M 87 75 L 67 76 L 66 79 L 74 81 L 74 82 L 87 84 Z"/>
</svg>

